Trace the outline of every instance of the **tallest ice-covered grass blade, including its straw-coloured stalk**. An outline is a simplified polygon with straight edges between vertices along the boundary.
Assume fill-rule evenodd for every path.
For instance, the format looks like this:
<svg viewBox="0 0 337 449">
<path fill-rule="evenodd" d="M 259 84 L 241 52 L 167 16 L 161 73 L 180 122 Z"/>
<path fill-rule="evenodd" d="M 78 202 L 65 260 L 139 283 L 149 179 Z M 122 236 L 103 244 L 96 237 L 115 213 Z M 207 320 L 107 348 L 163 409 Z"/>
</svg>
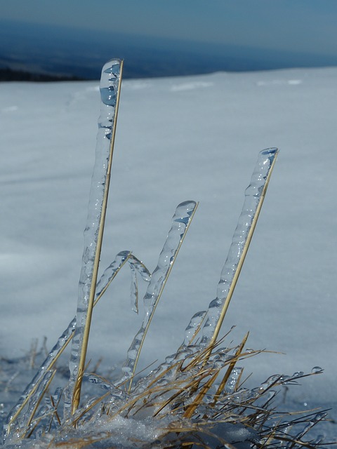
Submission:
<svg viewBox="0 0 337 449">
<path fill-rule="evenodd" d="M 88 219 L 84 231 L 77 324 L 70 357 L 70 382 L 65 393 L 65 415 L 68 416 L 77 410 L 81 396 L 81 382 L 86 363 L 110 186 L 122 72 L 123 61 L 111 60 L 103 66 L 100 80 L 101 109 L 98 119 L 95 166 L 91 180 Z"/>
</svg>

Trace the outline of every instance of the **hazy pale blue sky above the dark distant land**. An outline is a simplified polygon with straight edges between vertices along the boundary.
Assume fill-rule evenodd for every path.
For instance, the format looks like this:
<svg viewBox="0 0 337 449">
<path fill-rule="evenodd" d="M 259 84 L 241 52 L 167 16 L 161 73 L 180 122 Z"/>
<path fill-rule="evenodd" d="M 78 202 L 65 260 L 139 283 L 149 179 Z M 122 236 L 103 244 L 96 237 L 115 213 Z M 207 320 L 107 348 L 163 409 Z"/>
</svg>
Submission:
<svg viewBox="0 0 337 449">
<path fill-rule="evenodd" d="M 337 0 L 0 0 L 0 18 L 337 53 Z"/>
</svg>

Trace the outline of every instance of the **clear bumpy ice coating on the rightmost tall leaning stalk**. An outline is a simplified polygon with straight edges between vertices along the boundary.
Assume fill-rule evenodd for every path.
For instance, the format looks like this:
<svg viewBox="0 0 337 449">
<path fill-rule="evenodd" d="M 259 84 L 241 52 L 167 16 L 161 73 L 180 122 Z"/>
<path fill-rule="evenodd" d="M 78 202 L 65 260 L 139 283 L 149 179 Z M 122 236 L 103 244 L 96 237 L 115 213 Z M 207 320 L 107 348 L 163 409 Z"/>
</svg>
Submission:
<svg viewBox="0 0 337 449">
<path fill-rule="evenodd" d="M 260 207 L 260 200 L 265 192 L 265 186 L 269 180 L 270 168 L 277 156 L 277 148 L 263 149 L 258 155 L 258 161 L 251 177 L 249 187 L 245 191 L 244 206 L 237 222 L 232 244 L 230 246 L 227 259 L 221 272 L 220 281 L 216 293 L 216 299 L 211 301 L 207 311 L 207 319 L 204 324 L 201 344 L 209 344 L 216 330 L 216 325 L 220 319 L 223 304 L 227 299 L 234 275 L 246 247 L 249 232 L 253 225 L 254 217 Z"/>
</svg>

